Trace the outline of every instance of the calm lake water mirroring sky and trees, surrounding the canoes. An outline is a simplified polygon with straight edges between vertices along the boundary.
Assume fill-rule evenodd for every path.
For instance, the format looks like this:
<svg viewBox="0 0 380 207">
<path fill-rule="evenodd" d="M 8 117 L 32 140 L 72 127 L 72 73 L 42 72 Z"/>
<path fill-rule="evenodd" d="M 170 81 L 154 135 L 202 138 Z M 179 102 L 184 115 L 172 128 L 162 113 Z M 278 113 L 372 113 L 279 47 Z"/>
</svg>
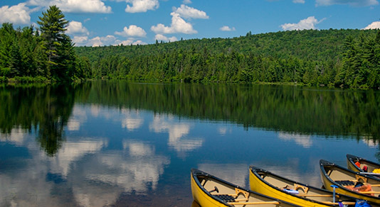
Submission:
<svg viewBox="0 0 380 207">
<path fill-rule="evenodd" d="M 0 206 L 191 206 L 190 169 L 250 164 L 322 186 L 320 159 L 379 161 L 377 91 L 92 82 L 0 86 Z"/>
</svg>

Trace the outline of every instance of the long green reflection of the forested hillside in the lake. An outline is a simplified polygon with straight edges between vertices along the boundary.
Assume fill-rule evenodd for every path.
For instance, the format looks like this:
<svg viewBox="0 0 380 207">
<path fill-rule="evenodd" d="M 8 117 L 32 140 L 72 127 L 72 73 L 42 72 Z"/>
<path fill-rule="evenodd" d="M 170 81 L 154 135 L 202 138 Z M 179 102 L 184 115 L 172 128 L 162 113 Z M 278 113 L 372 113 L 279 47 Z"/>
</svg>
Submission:
<svg viewBox="0 0 380 207">
<path fill-rule="evenodd" d="M 89 102 L 244 128 L 380 139 L 378 91 L 243 84 L 95 82 Z"/>
</svg>

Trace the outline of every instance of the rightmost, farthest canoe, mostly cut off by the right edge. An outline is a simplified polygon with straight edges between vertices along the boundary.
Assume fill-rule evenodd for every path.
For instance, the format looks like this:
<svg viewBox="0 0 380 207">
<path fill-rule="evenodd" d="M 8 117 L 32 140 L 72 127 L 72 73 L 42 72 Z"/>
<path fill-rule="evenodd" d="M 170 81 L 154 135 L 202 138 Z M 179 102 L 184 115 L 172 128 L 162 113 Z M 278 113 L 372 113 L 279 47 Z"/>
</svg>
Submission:
<svg viewBox="0 0 380 207">
<path fill-rule="evenodd" d="M 366 160 L 362 157 L 357 157 L 355 155 L 349 155 L 347 154 L 347 167 L 348 169 L 351 169 L 355 172 L 361 172 L 362 174 L 367 174 L 371 176 L 377 176 L 380 177 L 379 173 L 374 173 L 374 169 L 379 169 L 380 171 L 380 164 L 376 162 L 372 162 L 370 160 Z M 359 166 L 357 166 L 357 163 L 359 162 Z M 366 167 L 366 172 L 364 171 L 364 167 Z"/>
</svg>

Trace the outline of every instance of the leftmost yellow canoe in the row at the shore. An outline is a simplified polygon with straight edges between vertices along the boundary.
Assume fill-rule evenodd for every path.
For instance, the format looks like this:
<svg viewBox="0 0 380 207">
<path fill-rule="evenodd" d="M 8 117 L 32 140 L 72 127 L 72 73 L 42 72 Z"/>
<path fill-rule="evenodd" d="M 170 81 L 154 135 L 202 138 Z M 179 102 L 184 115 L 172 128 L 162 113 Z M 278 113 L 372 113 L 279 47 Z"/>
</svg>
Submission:
<svg viewBox="0 0 380 207">
<path fill-rule="evenodd" d="M 199 169 L 191 169 L 191 193 L 202 207 L 245 206 L 245 207 L 292 207 L 292 203 L 264 196 L 228 181 L 214 177 Z M 300 207 L 300 206 L 297 206 Z"/>
</svg>

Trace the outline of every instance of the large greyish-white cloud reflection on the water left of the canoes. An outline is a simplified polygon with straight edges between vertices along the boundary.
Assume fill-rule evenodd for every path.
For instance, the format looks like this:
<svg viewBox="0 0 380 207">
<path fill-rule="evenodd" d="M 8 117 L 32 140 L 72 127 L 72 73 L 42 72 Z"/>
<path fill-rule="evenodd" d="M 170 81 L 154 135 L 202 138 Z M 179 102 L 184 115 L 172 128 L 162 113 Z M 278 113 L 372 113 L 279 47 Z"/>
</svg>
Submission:
<svg viewBox="0 0 380 207">
<path fill-rule="evenodd" d="M 75 200 L 82 206 L 107 206 L 124 193 L 147 194 L 157 189 L 169 157 L 156 155 L 154 146 L 123 140 L 123 151 L 98 153 L 80 164 L 75 178 Z"/>
</svg>

